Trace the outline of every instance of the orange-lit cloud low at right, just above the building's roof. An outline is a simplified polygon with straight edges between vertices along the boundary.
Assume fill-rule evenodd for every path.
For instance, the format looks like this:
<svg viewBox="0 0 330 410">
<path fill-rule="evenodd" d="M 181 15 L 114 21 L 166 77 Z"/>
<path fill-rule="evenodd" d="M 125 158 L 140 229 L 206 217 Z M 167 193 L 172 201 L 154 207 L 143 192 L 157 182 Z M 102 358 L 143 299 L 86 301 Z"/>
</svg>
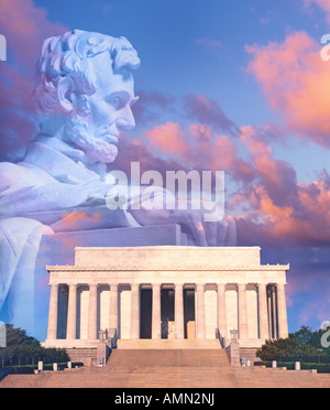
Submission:
<svg viewBox="0 0 330 410">
<path fill-rule="evenodd" d="M 314 184 L 322 185 L 321 182 Z M 273 246 L 276 241 L 329 246 L 330 216 L 326 211 L 329 192 L 322 187 L 317 197 L 310 196 L 310 185 L 298 185 L 298 212 L 290 204 L 274 203 L 274 193 L 263 183 L 250 186 L 250 190 L 235 197 L 237 205 L 244 203 L 246 206 L 245 214 L 238 217 L 240 233 L 244 237 L 248 231 L 256 241 L 270 240 Z"/>
</svg>

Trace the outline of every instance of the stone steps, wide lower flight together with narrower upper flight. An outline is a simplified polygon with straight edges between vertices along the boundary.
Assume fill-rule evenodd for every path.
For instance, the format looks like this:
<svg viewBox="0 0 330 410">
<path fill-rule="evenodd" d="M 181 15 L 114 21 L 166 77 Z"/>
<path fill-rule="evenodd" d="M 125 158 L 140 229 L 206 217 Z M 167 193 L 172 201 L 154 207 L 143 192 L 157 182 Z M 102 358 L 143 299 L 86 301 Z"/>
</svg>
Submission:
<svg viewBox="0 0 330 410">
<path fill-rule="evenodd" d="M 191 347 L 191 346 L 190 346 Z M 196 347 L 196 346 L 195 346 Z M 330 375 L 230 367 L 221 348 L 117 349 L 106 367 L 9 375 L 0 388 L 329 388 Z"/>
</svg>

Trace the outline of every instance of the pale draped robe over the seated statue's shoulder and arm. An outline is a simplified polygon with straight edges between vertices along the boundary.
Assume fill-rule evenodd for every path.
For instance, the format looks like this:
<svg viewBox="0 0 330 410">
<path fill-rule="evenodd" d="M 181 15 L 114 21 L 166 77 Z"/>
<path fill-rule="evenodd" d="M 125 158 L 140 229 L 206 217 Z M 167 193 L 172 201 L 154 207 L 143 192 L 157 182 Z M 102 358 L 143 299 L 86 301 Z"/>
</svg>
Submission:
<svg viewBox="0 0 330 410">
<path fill-rule="evenodd" d="M 58 201 L 59 184 L 69 192 L 75 185 L 102 181 L 105 170 L 88 169 L 77 160 L 84 160 L 81 151 L 63 142 L 54 148 L 50 141 L 31 142 L 22 162 L 0 163 L 0 321 L 26 331 L 33 331 L 34 268 L 44 235 L 139 226 L 127 211 L 110 212 L 105 199 Z M 48 195 L 45 186 L 51 187 Z"/>
</svg>

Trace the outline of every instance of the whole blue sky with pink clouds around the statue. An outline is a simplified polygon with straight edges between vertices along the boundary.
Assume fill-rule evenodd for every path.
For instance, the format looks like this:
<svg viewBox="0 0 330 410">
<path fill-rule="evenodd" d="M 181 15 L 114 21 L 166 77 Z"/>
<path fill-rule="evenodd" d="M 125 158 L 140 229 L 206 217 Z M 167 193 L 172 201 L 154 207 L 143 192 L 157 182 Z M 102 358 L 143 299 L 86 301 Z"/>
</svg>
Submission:
<svg viewBox="0 0 330 410">
<path fill-rule="evenodd" d="M 330 0 L 1 0 L 0 161 L 35 136 L 43 41 L 72 29 L 123 35 L 142 62 L 113 166 L 223 170 L 238 245 L 290 263 L 289 331 L 330 320 Z"/>
</svg>

